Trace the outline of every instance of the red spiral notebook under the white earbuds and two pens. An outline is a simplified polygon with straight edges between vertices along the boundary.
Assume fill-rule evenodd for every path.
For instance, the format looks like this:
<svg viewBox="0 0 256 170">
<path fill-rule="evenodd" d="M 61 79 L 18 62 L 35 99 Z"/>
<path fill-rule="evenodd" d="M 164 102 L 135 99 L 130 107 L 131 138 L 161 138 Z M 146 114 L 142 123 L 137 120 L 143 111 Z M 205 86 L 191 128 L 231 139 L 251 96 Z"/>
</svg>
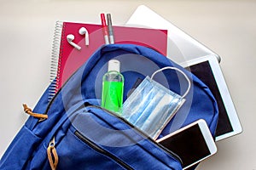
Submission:
<svg viewBox="0 0 256 170">
<path fill-rule="evenodd" d="M 90 44 L 85 45 L 85 36 L 79 34 L 81 27 L 89 32 Z M 73 42 L 81 49 L 73 48 L 67 42 L 67 35 L 73 34 Z M 154 48 L 166 56 L 167 31 L 148 28 L 113 26 L 115 43 L 132 43 Z M 95 24 L 74 23 L 57 21 L 52 50 L 49 100 L 61 88 L 68 77 L 90 58 L 97 48 L 104 44 L 102 26 Z"/>
</svg>

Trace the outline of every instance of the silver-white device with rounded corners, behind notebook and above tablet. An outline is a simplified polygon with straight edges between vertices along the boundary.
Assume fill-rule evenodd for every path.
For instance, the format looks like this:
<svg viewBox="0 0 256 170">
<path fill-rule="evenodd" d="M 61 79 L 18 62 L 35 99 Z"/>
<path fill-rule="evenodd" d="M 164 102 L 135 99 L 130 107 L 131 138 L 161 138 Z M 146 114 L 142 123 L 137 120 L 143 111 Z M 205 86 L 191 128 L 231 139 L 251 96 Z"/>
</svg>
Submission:
<svg viewBox="0 0 256 170">
<path fill-rule="evenodd" d="M 167 30 L 167 57 L 178 64 L 207 54 L 214 54 L 218 62 L 221 60 L 218 54 L 212 52 L 211 49 L 196 41 L 145 5 L 137 7 L 131 18 L 126 22 L 126 26 Z"/>
</svg>

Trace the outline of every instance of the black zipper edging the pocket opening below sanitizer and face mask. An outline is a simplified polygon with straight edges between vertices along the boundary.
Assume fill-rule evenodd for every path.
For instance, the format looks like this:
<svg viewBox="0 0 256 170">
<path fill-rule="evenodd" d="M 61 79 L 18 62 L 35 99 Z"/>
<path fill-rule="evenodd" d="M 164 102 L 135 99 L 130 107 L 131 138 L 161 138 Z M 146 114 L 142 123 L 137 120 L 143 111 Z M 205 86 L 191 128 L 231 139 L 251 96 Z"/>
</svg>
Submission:
<svg viewBox="0 0 256 170">
<path fill-rule="evenodd" d="M 162 146 L 161 144 L 158 144 L 154 139 L 150 138 L 150 137 L 148 136 L 148 134 L 144 133 L 141 129 L 139 129 L 139 128 L 135 127 L 134 125 L 132 125 L 131 122 L 126 121 L 124 117 L 117 115 L 117 114 L 114 113 L 113 111 L 108 111 L 107 109 L 105 109 L 105 108 L 103 108 L 103 107 L 101 107 L 101 106 L 99 106 L 99 105 L 86 105 L 86 107 L 94 107 L 94 108 L 96 108 L 96 109 L 100 109 L 100 110 L 102 110 L 102 111 L 107 112 L 108 114 L 110 114 L 110 115 L 112 115 L 112 116 L 115 116 L 115 117 L 119 118 L 120 121 L 124 122 L 125 124 L 127 124 L 127 125 L 130 126 L 131 128 L 134 128 L 138 133 L 140 133 L 141 135 L 143 135 L 143 138 L 150 140 L 152 143 L 154 143 L 155 145 L 157 145 L 161 150 L 166 151 L 167 154 L 171 155 L 171 156 L 174 157 L 177 161 L 180 161 L 180 163 L 183 164 L 182 159 L 181 159 L 179 156 L 177 156 L 177 154 L 175 154 L 174 152 L 172 152 L 172 150 L 168 150 L 168 149 L 166 149 L 166 147 Z"/>
</svg>

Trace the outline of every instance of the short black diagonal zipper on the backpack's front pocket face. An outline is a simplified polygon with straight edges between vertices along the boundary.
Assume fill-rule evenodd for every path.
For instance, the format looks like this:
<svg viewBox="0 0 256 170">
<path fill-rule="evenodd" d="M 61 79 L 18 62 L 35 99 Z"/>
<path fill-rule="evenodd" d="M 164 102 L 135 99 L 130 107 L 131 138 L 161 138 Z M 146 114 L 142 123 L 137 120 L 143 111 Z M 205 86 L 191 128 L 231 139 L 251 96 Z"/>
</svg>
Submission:
<svg viewBox="0 0 256 170">
<path fill-rule="evenodd" d="M 75 135 L 81 139 L 84 143 L 88 144 L 92 149 L 100 152 L 101 154 L 108 156 L 109 158 L 113 159 L 114 161 L 116 161 L 117 163 L 119 163 L 119 165 L 121 165 L 122 167 L 125 167 L 125 169 L 128 170 L 133 170 L 132 167 L 130 167 L 127 163 L 125 163 L 125 161 L 120 160 L 118 157 L 113 156 L 113 154 L 111 154 L 110 152 L 108 152 L 107 150 L 102 149 L 101 147 L 99 147 L 97 144 L 95 144 L 94 142 L 92 142 L 90 139 L 84 137 L 83 134 L 79 133 L 79 131 L 75 131 Z"/>
</svg>

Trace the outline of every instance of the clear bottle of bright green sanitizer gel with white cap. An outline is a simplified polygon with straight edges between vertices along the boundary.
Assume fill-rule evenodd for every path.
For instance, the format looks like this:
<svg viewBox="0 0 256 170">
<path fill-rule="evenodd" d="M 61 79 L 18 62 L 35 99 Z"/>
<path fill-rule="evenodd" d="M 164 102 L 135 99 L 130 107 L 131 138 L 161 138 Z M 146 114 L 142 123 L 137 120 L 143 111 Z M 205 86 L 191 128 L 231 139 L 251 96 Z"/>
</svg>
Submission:
<svg viewBox="0 0 256 170">
<path fill-rule="evenodd" d="M 118 115 L 122 113 L 124 81 L 119 60 L 109 60 L 108 72 L 102 78 L 102 107 Z"/>
</svg>

